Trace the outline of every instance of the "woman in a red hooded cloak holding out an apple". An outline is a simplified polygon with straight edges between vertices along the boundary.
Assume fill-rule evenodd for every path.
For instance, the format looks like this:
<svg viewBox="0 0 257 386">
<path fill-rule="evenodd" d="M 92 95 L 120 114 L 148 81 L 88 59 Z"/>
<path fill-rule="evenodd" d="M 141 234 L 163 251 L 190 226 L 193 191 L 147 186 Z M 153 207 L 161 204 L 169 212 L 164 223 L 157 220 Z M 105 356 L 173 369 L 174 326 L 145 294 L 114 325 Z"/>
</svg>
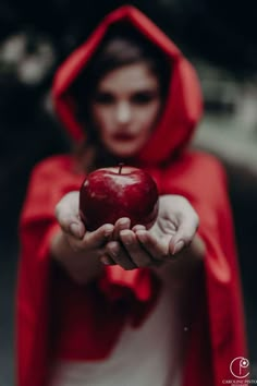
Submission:
<svg viewBox="0 0 257 386">
<path fill-rule="evenodd" d="M 223 169 L 186 149 L 201 113 L 193 68 L 139 11 L 122 7 L 60 68 L 53 101 L 78 145 L 75 157 L 38 165 L 28 188 L 19 385 L 231 379 L 231 361 L 245 355 L 238 270 Z M 88 232 L 79 185 L 121 160 L 156 180 L 157 221 L 131 229 L 121 218 Z"/>
</svg>

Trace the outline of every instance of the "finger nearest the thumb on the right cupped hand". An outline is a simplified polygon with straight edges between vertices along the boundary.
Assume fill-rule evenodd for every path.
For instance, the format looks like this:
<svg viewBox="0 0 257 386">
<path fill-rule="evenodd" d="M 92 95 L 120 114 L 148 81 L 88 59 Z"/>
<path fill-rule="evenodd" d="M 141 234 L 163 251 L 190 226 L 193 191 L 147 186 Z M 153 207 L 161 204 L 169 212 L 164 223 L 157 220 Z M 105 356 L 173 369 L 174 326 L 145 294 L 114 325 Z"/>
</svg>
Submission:
<svg viewBox="0 0 257 386">
<path fill-rule="evenodd" d="M 170 236 L 158 240 L 147 230 L 138 230 L 136 237 L 148 254 L 158 261 L 167 258 L 169 255 L 169 241 Z"/>
</svg>

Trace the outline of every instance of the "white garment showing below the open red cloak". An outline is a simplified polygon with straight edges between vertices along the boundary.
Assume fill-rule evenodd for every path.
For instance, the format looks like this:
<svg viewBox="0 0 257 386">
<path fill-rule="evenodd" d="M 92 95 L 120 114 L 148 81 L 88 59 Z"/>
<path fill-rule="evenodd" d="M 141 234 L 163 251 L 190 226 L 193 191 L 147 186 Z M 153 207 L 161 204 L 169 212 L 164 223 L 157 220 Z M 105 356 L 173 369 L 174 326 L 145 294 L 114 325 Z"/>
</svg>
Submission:
<svg viewBox="0 0 257 386">
<path fill-rule="evenodd" d="M 99 361 L 60 361 L 51 386 L 181 386 L 183 326 L 178 293 L 163 277 L 155 310 L 138 328 L 127 325 L 112 353 Z"/>
</svg>

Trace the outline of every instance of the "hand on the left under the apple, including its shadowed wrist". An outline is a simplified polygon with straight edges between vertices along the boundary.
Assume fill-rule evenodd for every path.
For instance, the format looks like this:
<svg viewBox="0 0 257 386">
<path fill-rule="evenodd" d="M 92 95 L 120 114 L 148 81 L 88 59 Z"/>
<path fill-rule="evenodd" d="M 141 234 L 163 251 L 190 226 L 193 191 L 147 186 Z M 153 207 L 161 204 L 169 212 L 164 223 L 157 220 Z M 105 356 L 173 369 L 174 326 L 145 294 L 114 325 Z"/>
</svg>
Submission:
<svg viewBox="0 0 257 386">
<path fill-rule="evenodd" d="M 113 234 L 113 225 L 105 224 L 97 230 L 86 231 L 78 214 L 79 192 L 71 192 L 57 204 L 56 218 L 61 231 L 51 242 L 51 254 L 71 278 L 86 284 L 99 275 L 101 261 L 108 260 L 105 246 Z"/>
</svg>

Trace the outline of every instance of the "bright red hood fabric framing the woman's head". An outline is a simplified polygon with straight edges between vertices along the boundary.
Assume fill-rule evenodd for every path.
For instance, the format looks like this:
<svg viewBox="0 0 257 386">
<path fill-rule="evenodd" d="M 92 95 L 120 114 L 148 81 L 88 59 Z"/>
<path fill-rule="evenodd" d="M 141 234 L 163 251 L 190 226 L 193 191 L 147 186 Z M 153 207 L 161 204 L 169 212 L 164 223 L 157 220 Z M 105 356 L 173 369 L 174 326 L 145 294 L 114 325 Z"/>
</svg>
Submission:
<svg viewBox="0 0 257 386">
<path fill-rule="evenodd" d="M 74 100 L 69 93 L 71 85 L 87 65 L 108 28 L 119 22 L 128 22 L 157 45 L 172 62 L 172 76 L 167 108 L 138 158 L 145 162 L 160 162 L 174 150 L 181 150 L 191 140 L 198 123 L 203 101 L 195 70 L 178 47 L 140 11 L 124 5 L 107 15 L 90 37 L 79 46 L 57 71 L 52 87 L 56 111 L 72 137 L 79 142 L 84 131 L 75 119 Z"/>
</svg>

